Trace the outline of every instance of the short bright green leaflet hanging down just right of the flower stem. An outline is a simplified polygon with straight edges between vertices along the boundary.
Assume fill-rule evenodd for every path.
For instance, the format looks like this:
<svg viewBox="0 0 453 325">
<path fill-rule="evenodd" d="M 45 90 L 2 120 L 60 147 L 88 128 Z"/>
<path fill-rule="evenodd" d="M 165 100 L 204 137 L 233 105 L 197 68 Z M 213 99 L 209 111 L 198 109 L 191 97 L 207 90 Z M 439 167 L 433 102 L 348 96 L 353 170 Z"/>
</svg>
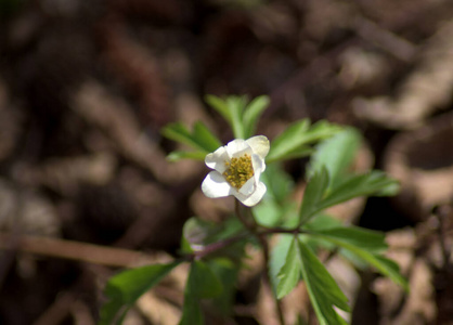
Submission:
<svg viewBox="0 0 453 325">
<path fill-rule="evenodd" d="M 297 236 L 294 237 L 285 263 L 279 272 L 279 284 L 276 286 L 276 297 L 279 299 L 289 294 L 300 280 L 301 261 Z"/>
</svg>

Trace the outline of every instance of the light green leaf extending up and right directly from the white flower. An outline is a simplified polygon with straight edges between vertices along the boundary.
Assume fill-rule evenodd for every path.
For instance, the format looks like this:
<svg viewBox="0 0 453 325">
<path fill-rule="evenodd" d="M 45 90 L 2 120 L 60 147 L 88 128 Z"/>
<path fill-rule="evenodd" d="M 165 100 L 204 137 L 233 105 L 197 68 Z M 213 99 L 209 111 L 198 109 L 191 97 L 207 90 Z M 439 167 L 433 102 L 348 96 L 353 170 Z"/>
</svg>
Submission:
<svg viewBox="0 0 453 325">
<path fill-rule="evenodd" d="M 310 121 L 303 119 L 290 125 L 282 134 L 276 136 L 271 143 L 271 150 L 267 157 L 267 162 L 288 159 L 295 153 L 300 154 L 301 147 L 307 146 L 323 139 L 327 139 L 341 130 L 339 127 L 321 120 L 310 127 Z M 305 151 L 302 151 L 305 153 Z"/>
</svg>

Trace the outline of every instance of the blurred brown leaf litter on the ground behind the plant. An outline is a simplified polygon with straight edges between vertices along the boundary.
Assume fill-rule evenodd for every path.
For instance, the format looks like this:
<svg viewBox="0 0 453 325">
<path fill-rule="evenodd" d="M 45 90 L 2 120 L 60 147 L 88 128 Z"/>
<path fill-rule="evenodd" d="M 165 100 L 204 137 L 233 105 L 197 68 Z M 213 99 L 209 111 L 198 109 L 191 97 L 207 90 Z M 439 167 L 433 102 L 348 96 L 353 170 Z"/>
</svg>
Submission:
<svg viewBox="0 0 453 325">
<path fill-rule="evenodd" d="M 0 0 L 1 324 L 94 324 L 108 276 L 170 259 L 187 218 L 232 210 L 200 193 L 204 164 L 166 160 L 171 121 L 232 139 L 206 94 L 268 94 L 271 140 L 307 117 L 358 128 L 358 159 L 402 192 L 346 222 L 390 232 L 412 290 L 353 271 L 352 324 L 453 324 L 452 1 Z M 296 184 L 305 162 L 285 166 Z M 176 324 L 183 271 L 127 324 Z M 272 324 L 258 284 L 216 322 Z M 299 294 L 288 315 L 315 324 Z"/>
</svg>

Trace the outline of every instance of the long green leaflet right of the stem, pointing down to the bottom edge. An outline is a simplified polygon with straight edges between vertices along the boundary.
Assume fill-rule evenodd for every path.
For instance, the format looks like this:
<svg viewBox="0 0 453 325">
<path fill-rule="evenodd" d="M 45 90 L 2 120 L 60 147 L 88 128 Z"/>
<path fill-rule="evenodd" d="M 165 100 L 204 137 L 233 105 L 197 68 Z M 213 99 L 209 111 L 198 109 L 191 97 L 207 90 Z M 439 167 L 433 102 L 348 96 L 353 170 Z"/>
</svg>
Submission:
<svg viewBox="0 0 453 325">
<path fill-rule="evenodd" d="M 349 311 L 348 298 L 311 249 L 300 240 L 298 243 L 302 277 L 320 325 L 346 325 L 346 321 L 337 314 L 334 306 Z"/>
</svg>

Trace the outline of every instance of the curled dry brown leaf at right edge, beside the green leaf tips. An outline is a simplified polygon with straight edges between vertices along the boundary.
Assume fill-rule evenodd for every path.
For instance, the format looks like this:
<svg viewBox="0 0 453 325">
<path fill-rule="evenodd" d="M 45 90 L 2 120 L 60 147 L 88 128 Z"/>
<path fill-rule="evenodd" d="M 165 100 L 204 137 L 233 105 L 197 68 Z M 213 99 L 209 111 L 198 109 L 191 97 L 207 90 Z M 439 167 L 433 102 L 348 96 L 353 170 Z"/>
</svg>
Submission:
<svg viewBox="0 0 453 325">
<path fill-rule="evenodd" d="M 385 169 L 401 183 L 393 198 L 415 221 L 426 220 L 430 209 L 453 196 L 453 115 L 396 135 L 387 146 Z"/>
</svg>

